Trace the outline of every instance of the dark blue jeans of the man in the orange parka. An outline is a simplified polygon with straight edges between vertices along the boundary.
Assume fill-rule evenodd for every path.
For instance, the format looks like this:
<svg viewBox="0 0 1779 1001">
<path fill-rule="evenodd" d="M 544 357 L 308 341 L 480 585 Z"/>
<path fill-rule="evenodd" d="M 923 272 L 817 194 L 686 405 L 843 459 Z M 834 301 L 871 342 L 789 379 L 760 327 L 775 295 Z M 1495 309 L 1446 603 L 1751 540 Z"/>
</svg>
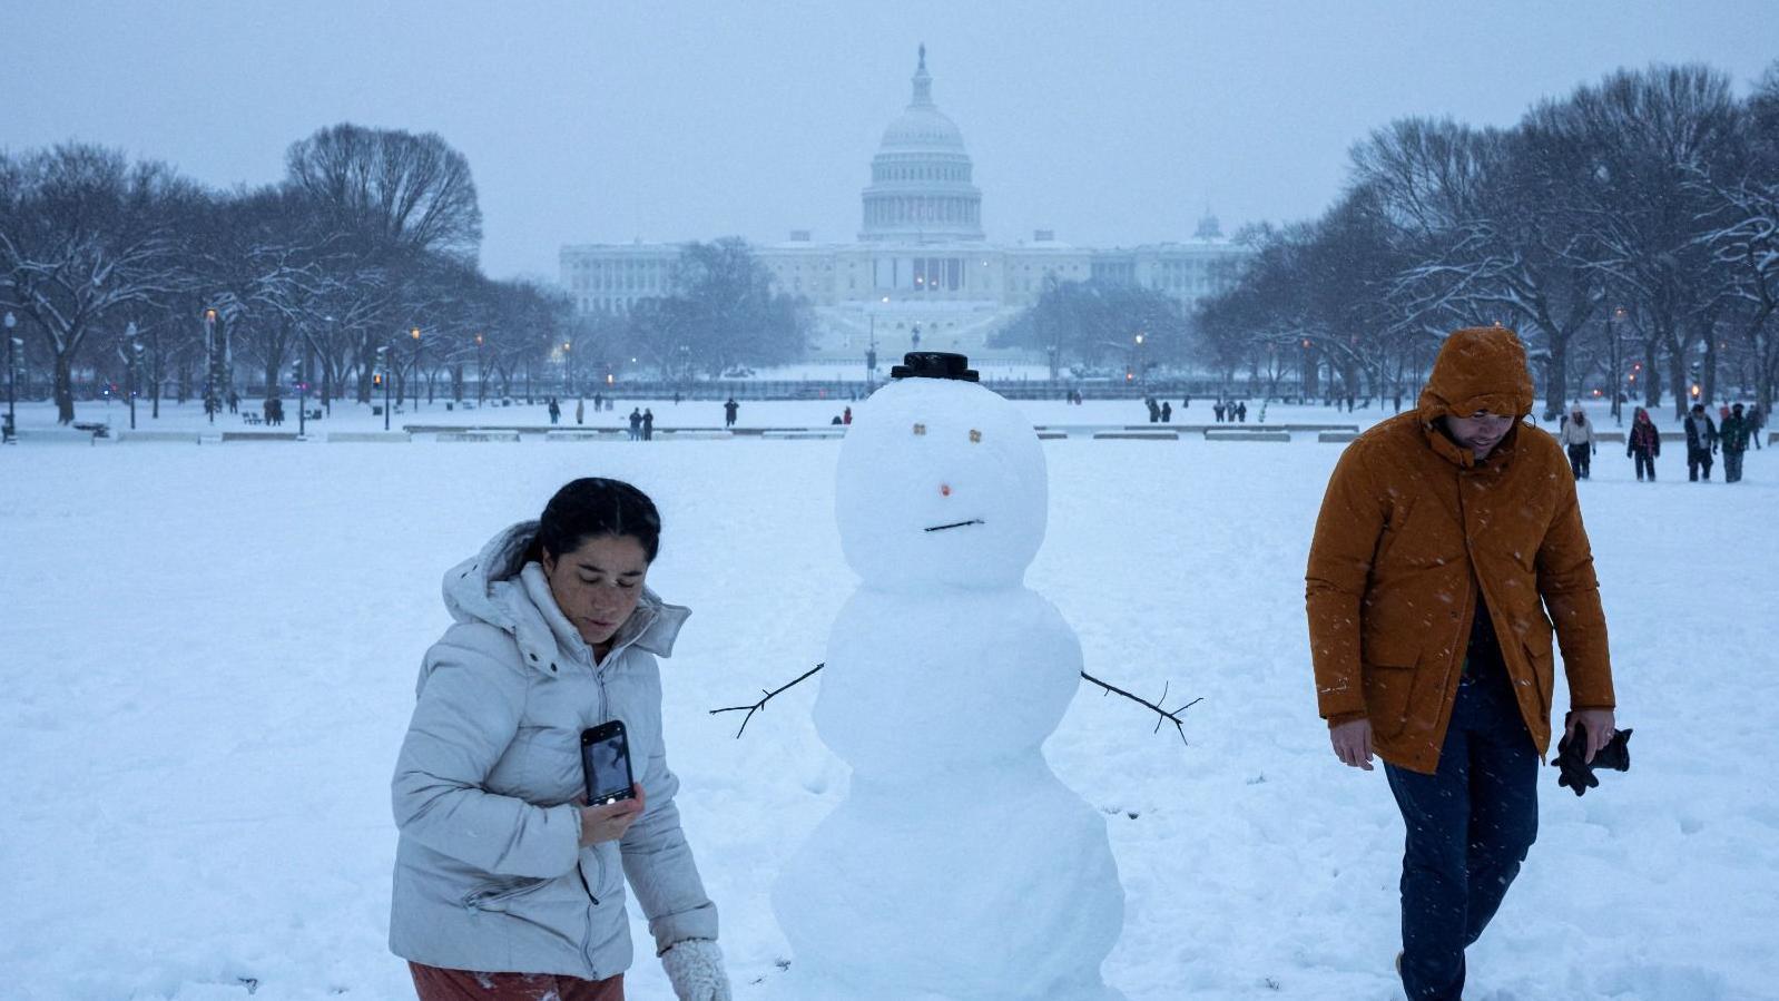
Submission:
<svg viewBox="0 0 1779 1001">
<path fill-rule="evenodd" d="M 1464 948 L 1489 926 L 1539 832 L 1539 752 L 1503 670 L 1464 679 L 1439 772 L 1384 765 L 1407 825 L 1402 859 L 1402 987 L 1455 1001 Z"/>
</svg>

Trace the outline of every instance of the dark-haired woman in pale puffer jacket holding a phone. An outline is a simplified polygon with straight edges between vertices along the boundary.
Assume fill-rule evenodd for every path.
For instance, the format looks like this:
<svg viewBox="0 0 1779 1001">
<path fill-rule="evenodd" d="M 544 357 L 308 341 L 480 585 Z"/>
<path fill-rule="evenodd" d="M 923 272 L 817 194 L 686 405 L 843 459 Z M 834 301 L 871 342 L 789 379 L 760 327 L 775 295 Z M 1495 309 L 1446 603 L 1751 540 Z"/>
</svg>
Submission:
<svg viewBox="0 0 1779 1001">
<path fill-rule="evenodd" d="M 619 1001 L 624 877 L 681 1001 L 726 1001 L 717 909 L 680 830 L 656 656 L 688 610 L 644 587 L 660 516 L 584 478 L 445 576 L 395 766 L 390 948 L 422 1001 Z M 635 798 L 585 805 L 582 731 L 623 720 Z"/>
</svg>

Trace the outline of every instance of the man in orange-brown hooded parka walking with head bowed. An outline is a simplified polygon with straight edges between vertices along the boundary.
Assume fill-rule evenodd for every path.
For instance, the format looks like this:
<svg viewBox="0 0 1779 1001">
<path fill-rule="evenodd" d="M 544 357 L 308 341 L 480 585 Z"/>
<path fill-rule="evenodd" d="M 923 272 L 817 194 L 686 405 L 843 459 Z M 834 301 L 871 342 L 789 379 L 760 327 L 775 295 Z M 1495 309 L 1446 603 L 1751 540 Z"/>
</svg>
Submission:
<svg viewBox="0 0 1779 1001">
<path fill-rule="evenodd" d="M 1537 836 L 1555 695 L 1551 629 L 1583 756 L 1614 736 L 1612 667 L 1574 478 L 1532 412 L 1512 331 L 1453 332 L 1416 409 L 1354 441 L 1329 478 L 1306 596 L 1334 754 L 1384 759 L 1407 827 L 1402 985 L 1455 999 L 1464 949 Z M 1546 617 L 1548 613 L 1548 617 Z"/>
</svg>

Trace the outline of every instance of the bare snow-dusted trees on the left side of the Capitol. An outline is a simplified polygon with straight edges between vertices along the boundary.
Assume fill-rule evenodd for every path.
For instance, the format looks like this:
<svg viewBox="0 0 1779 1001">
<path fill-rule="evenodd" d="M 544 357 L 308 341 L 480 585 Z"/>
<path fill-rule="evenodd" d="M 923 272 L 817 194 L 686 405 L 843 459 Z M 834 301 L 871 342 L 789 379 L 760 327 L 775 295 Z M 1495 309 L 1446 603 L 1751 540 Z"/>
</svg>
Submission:
<svg viewBox="0 0 1779 1001">
<path fill-rule="evenodd" d="M 297 380 L 326 404 L 564 389 L 626 366 L 669 375 L 795 357 L 806 309 L 767 290 L 747 245 L 690 245 L 674 295 L 624 320 L 486 277 L 468 160 L 438 135 L 324 128 L 263 188 L 206 190 L 157 162 L 82 144 L 0 155 L 0 313 L 62 423 L 75 373 L 222 396 Z M 719 331 L 744 331 L 724 340 Z"/>
</svg>

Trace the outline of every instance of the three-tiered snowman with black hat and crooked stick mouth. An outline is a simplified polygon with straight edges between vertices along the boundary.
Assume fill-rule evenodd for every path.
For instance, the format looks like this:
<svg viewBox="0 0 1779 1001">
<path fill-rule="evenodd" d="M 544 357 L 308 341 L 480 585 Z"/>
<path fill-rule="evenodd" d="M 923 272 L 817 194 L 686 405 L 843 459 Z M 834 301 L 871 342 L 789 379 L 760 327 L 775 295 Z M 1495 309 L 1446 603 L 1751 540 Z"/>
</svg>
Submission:
<svg viewBox="0 0 1779 1001">
<path fill-rule="evenodd" d="M 1082 677 L 1075 631 L 1025 587 L 1044 453 L 966 364 L 909 354 L 840 450 L 861 583 L 815 725 L 852 784 L 772 891 L 795 996 L 1121 997 L 1099 976 L 1124 921 L 1105 820 L 1041 750 Z"/>
</svg>

